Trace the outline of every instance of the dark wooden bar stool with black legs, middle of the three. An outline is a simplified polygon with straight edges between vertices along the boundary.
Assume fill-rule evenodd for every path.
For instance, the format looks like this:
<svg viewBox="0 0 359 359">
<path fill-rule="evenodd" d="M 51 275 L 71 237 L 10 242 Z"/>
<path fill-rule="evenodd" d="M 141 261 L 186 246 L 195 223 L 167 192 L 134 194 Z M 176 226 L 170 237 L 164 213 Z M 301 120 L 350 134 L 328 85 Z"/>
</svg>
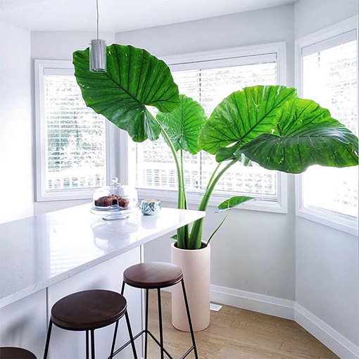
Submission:
<svg viewBox="0 0 359 359">
<path fill-rule="evenodd" d="M 94 330 L 115 324 L 111 355 L 115 350 L 115 340 L 118 322 L 125 315 L 127 329 L 134 359 L 137 359 L 136 348 L 132 336 L 130 319 L 127 314 L 127 301 L 124 296 L 115 291 L 90 290 L 79 291 L 57 301 L 51 308 L 51 319 L 47 332 L 44 359 L 47 358 L 50 344 L 52 325 L 71 331 L 86 332 L 86 358 L 89 359 L 89 333 L 91 334 L 91 354 L 95 358 Z"/>
</svg>

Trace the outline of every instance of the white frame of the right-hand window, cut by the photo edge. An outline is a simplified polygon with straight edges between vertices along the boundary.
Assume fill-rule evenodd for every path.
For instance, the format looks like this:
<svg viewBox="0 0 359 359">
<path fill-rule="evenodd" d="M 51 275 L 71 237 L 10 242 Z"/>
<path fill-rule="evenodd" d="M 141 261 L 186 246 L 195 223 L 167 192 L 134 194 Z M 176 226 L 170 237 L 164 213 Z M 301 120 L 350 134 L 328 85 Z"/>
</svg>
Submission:
<svg viewBox="0 0 359 359">
<path fill-rule="evenodd" d="M 348 34 L 356 30 L 356 36 L 358 41 L 358 15 L 353 16 L 347 20 L 341 21 L 336 25 L 326 27 L 318 32 L 309 34 L 306 37 L 297 39 L 295 43 L 295 74 L 296 74 L 296 89 L 298 89 L 298 95 L 301 96 L 303 92 L 303 62 L 302 51 L 308 46 L 315 46 L 322 42 L 328 42 L 330 44 L 332 39 L 341 35 Z M 359 42 L 358 42 L 359 43 Z M 319 45 L 320 46 L 320 45 Z M 318 48 L 320 49 L 320 48 Z M 359 80 L 359 79 L 358 79 Z M 359 81 L 358 81 L 359 85 Z M 358 92 L 359 94 L 359 92 Z M 358 99 L 359 101 L 359 99 Z M 324 208 L 308 208 L 303 206 L 303 191 L 302 191 L 302 178 L 303 175 L 296 175 L 296 215 L 307 220 L 312 220 L 322 225 L 339 229 L 343 232 L 353 234 L 358 237 L 358 219 L 351 219 L 345 215 L 336 214 Z"/>
</svg>

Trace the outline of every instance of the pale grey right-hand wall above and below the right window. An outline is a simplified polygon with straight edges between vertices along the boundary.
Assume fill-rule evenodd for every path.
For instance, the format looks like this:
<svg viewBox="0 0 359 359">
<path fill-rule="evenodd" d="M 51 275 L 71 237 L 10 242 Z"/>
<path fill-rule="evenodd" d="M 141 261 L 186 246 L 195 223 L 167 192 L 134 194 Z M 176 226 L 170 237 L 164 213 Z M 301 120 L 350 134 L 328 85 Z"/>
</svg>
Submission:
<svg viewBox="0 0 359 359">
<path fill-rule="evenodd" d="M 301 0 L 296 39 L 358 14 L 356 0 Z M 359 344 L 358 237 L 296 218 L 296 302 Z"/>
</svg>

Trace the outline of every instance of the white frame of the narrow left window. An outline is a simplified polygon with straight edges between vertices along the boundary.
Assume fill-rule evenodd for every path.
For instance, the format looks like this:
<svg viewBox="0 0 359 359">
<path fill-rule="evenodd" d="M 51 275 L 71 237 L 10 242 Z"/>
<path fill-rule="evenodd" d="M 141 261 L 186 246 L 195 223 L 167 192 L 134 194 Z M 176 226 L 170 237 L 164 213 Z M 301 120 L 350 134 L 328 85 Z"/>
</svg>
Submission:
<svg viewBox="0 0 359 359">
<path fill-rule="evenodd" d="M 58 189 L 46 191 L 46 126 L 44 116 L 44 73 L 46 69 L 58 74 L 73 75 L 72 61 L 68 60 L 35 60 L 35 126 L 36 126 L 36 201 L 63 201 L 73 199 L 92 199 L 94 188 Z M 113 128 L 106 120 L 106 182 L 113 177 L 115 170 L 115 136 Z"/>
</svg>

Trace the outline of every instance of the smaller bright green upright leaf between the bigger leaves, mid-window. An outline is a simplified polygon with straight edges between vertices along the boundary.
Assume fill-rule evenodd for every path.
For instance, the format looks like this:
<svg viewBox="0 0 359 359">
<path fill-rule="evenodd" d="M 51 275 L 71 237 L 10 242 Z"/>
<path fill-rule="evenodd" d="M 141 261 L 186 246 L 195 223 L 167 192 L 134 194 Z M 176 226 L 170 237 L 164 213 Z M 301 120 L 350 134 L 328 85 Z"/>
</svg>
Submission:
<svg viewBox="0 0 359 359">
<path fill-rule="evenodd" d="M 199 132 L 206 123 L 202 106 L 193 99 L 180 95 L 180 107 L 171 113 L 159 112 L 157 120 L 170 136 L 176 151 L 182 149 L 195 155 L 199 148 Z"/>
</svg>

